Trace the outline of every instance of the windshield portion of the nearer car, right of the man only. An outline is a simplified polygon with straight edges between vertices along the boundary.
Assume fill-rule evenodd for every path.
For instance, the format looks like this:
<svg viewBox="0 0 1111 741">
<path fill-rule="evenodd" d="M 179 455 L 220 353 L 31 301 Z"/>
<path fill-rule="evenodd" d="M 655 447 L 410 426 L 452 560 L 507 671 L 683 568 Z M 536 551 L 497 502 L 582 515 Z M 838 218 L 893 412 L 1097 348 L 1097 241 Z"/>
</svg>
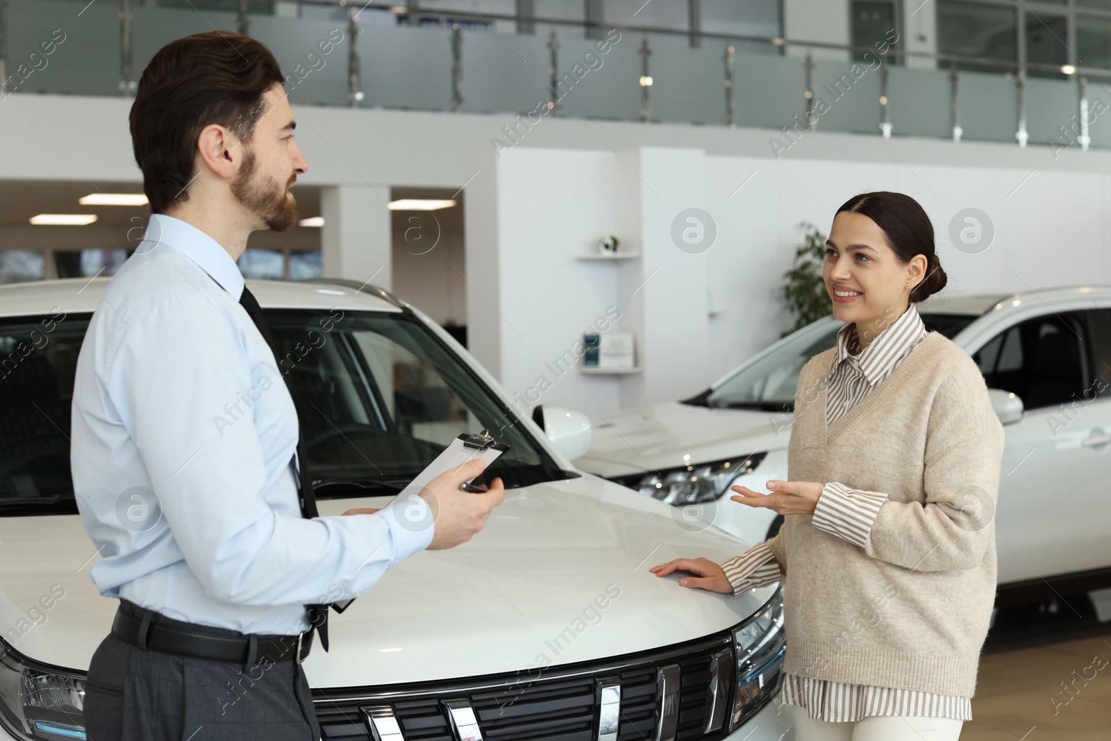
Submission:
<svg viewBox="0 0 1111 741">
<path fill-rule="evenodd" d="M 300 311 L 267 319 L 313 479 L 412 479 L 461 433 L 482 429 L 511 445 L 484 477 L 507 487 L 552 478 L 516 418 L 416 319 L 347 312 L 327 332 Z"/>
</svg>

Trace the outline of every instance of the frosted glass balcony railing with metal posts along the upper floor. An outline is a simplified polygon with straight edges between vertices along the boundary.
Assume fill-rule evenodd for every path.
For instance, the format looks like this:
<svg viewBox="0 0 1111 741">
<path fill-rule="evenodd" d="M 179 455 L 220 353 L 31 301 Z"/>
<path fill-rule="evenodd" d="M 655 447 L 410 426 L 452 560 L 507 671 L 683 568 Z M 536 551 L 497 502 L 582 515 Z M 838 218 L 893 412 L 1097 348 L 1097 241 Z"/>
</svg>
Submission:
<svg viewBox="0 0 1111 741">
<path fill-rule="evenodd" d="M 382 2 L 223 3 L 267 14 L 181 4 L 0 2 L 0 99 L 130 96 L 166 43 L 246 29 L 273 51 L 294 104 L 758 127 L 773 130 L 773 149 L 808 127 L 1111 148 L 1111 70 L 427 7 L 414 23 Z"/>
</svg>

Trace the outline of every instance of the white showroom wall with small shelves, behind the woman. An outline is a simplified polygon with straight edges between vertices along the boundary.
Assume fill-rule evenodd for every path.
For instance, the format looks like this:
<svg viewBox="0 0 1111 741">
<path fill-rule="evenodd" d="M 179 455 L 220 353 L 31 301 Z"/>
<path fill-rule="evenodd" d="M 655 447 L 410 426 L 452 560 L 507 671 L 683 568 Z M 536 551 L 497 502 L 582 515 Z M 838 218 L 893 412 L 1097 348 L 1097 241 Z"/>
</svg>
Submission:
<svg viewBox="0 0 1111 741">
<path fill-rule="evenodd" d="M 862 191 L 900 191 L 922 204 L 949 293 L 1111 281 L 1104 217 L 1111 177 L 1099 173 L 703 157 L 658 148 L 608 154 L 517 148 L 500 161 L 480 152 L 471 162 L 493 182 L 487 198 L 468 201 L 469 301 L 480 304 L 469 331 L 484 338 L 472 349 L 528 405 L 604 415 L 705 388 L 790 328 L 793 317 L 779 291 L 801 240 L 795 224 L 810 221 L 828 233 L 841 203 Z M 689 204 L 704 204 L 718 228 L 704 256 L 671 242 L 671 221 Z M 987 213 L 995 230 L 978 254 L 957 250 L 949 237 L 950 222 L 967 208 Z M 471 239 L 472 226 L 497 238 Z M 574 260 L 610 230 L 642 258 Z M 497 263 L 497 276 L 476 276 L 479 263 Z M 720 310 L 714 316 L 707 284 Z M 643 374 L 554 373 L 552 359 L 611 304 L 623 313 L 617 329 L 638 336 Z"/>
</svg>

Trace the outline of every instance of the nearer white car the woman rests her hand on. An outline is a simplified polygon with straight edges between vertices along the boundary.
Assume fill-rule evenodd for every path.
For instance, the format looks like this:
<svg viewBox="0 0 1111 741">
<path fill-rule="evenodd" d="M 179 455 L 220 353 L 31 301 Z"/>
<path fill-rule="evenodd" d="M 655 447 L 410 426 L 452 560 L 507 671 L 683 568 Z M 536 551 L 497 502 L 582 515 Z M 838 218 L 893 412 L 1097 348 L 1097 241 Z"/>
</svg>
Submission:
<svg viewBox="0 0 1111 741">
<path fill-rule="evenodd" d="M 84 738 L 82 681 L 117 607 L 89 579 L 99 554 L 69 471 L 73 372 L 106 284 L 0 287 L 0 739 Z M 248 286 L 301 410 L 321 514 L 383 505 L 460 433 L 512 445 L 483 474 L 507 495 L 481 533 L 408 559 L 333 615 L 331 652 L 306 660 L 326 741 L 793 738 L 775 702 L 778 588 L 734 598 L 648 571 L 745 543 L 575 470 L 585 418 L 518 418 L 470 353 L 389 293 Z"/>
</svg>

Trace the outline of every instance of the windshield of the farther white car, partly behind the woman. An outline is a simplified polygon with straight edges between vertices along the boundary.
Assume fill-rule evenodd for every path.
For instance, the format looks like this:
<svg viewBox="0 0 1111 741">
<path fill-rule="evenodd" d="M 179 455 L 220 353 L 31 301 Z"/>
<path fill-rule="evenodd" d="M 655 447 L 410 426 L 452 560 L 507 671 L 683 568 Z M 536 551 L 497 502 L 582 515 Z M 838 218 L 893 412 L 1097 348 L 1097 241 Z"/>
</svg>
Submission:
<svg viewBox="0 0 1111 741">
<path fill-rule="evenodd" d="M 975 314 L 922 313 L 928 331 L 937 331 L 949 339 L 972 323 Z M 717 389 L 705 391 L 685 403 L 715 409 L 758 409 L 763 411 L 794 410 L 794 391 L 799 373 L 807 361 L 837 344 L 837 333 L 843 322 L 828 322 L 822 328 L 800 331 L 784 338 L 778 348 L 741 366 Z"/>
</svg>

